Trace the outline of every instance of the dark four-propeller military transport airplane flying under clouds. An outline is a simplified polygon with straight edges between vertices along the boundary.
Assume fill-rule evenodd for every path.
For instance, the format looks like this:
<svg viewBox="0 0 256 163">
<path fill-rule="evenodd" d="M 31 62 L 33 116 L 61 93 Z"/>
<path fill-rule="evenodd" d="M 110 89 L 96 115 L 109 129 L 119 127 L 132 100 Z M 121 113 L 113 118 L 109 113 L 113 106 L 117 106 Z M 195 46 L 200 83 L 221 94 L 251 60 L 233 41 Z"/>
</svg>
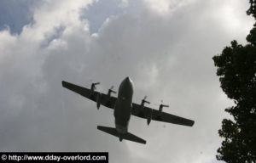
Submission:
<svg viewBox="0 0 256 163">
<path fill-rule="evenodd" d="M 163 112 L 163 107 L 169 107 L 168 105 L 160 104 L 159 110 L 154 110 L 144 106 L 145 103 L 150 104 L 148 101 L 146 101 L 146 97 L 143 98 L 141 104 L 132 103 L 133 82 L 131 81 L 130 77 L 126 77 L 125 80 L 121 82 L 117 98 L 111 96 L 111 93 L 116 93 L 113 91 L 113 87 L 108 89 L 108 94 L 96 92 L 96 85 L 98 84 L 100 83 L 92 83 L 90 89 L 88 89 L 62 81 L 63 87 L 66 87 L 75 93 L 79 93 L 85 98 L 95 101 L 97 109 L 100 108 L 101 104 L 113 109 L 115 128 L 108 126 L 97 126 L 97 129 L 118 137 L 119 141 L 126 139 L 137 143 L 146 143 L 146 141 L 142 138 L 138 138 L 137 136 L 128 132 L 128 125 L 131 115 L 147 119 L 148 125 L 151 120 L 169 122 L 183 126 L 194 125 L 195 121 Z"/>
</svg>

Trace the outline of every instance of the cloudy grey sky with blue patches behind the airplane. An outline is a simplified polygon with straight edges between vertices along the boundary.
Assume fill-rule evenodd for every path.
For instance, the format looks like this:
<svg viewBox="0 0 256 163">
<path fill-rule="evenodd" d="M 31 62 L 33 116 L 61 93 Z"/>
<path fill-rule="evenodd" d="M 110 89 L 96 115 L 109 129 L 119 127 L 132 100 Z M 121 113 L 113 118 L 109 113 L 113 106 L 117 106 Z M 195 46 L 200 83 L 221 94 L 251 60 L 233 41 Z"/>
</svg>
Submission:
<svg viewBox="0 0 256 163">
<path fill-rule="evenodd" d="M 109 162 L 213 163 L 218 129 L 233 103 L 212 56 L 246 43 L 253 19 L 241 0 L 1 0 L 0 151 L 109 152 Z M 61 87 L 106 93 L 130 76 L 133 101 L 160 100 L 195 120 L 177 126 L 132 116 L 129 132 L 147 144 L 98 131 L 113 110 Z"/>
</svg>

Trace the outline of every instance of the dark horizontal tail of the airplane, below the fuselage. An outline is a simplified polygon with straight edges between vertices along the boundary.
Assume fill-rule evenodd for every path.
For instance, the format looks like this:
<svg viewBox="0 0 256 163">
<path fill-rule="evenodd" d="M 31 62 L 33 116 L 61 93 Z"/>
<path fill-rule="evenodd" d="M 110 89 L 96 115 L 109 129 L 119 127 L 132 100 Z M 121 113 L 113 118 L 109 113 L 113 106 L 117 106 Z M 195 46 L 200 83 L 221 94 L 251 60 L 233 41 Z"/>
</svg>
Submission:
<svg viewBox="0 0 256 163">
<path fill-rule="evenodd" d="M 118 137 L 120 141 L 122 141 L 122 139 L 125 139 L 133 142 L 137 142 L 137 143 L 146 143 L 145 140 L 143 140 L 142 138 L 138 138 L 137 136 L 131 134 L 130 132 L 120 135 L 119 132 L 117 132 L 116 129 L 113 127 L 97 126 L 97 129 L 101 130 L 102 132 L 107 132 L 115 137 Z"/>
</svg>

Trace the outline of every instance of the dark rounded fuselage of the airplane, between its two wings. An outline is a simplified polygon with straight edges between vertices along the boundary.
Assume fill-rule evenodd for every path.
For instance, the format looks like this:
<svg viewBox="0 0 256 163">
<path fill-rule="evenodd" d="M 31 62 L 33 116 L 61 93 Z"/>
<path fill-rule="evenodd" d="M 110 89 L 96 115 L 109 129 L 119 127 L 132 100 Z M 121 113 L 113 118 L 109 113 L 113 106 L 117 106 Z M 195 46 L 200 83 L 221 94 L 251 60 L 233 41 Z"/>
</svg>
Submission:
<svg viewBox="0 0 256 163">
<path fill-rule="evenodd" d="M 133 83 L 126 77 L 119 86 L 118 98 L 114 106 L 115 128 L 120 135 L 128 132 L 129 120 L 132 109 Z"/>
</svg>

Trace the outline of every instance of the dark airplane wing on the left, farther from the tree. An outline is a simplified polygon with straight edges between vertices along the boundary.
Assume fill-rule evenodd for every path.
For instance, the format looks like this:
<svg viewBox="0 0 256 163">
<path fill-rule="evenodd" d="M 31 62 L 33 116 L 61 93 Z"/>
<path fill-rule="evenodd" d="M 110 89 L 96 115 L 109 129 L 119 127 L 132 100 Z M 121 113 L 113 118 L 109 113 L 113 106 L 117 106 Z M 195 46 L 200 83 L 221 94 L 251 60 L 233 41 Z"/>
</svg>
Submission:
<svg viewBox="0 0 256 163">
<path fill-rule="evenodd" d="M 113 109 L 115 101 L 116 101 L 116 98 L 114 98 L 114 97 L 109 97 L 108 95 L 106 95 L 104 93 L 99 93 L 96 91 L 91 93 L 90 89 L 88 89 L 86 87 L 77 86 L 70 82 L 62 81 L 62 87 L 66 87 L 67 89 L 69 89 L 75 93 L 79 93 L 81 96 L 84 96 L 84 98 L 89 98 L 90 100 L 95 101 L 95 102 L 97 102 L 98 94 L 100 94 L 101 95 L 101 101 L 100 101 L 101 104 L 110 109 Z"/>
</svg>

